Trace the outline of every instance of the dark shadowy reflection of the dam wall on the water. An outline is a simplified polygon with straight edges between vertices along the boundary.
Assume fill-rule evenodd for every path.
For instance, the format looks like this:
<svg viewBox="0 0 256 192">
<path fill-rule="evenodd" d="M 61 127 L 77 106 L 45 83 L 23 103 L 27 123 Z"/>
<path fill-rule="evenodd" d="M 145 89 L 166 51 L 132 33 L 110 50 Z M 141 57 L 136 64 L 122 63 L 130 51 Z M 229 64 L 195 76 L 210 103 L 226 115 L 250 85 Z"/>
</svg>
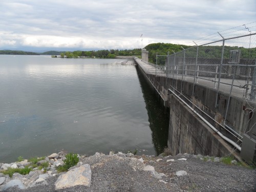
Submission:
<svg viewBox="0 0 256 192">
<path fill-rule="evenodd" d="M 169 112 L 160 104 L 159 96 L 156 95 L 154 88 L 148 84 L 138 67 L 136 69 L 152 131 L 152 142 L 157 155 L 159 155 L 167 147 Z"/>
</svg>

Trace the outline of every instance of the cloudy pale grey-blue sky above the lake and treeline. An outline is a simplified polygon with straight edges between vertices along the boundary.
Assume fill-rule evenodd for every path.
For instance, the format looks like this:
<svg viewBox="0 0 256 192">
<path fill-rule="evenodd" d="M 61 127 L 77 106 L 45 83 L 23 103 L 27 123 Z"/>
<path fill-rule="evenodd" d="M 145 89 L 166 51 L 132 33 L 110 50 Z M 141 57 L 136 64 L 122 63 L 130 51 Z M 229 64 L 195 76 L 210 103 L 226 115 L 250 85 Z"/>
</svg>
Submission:
<svg viewBox="0 0 256 192">
<path fill-rule="evenodd" d="M 255 0 L 0 0 L 0 5 L 0 50 L 191 45 L 230 28 L 256 29 Z"/>
</svg>

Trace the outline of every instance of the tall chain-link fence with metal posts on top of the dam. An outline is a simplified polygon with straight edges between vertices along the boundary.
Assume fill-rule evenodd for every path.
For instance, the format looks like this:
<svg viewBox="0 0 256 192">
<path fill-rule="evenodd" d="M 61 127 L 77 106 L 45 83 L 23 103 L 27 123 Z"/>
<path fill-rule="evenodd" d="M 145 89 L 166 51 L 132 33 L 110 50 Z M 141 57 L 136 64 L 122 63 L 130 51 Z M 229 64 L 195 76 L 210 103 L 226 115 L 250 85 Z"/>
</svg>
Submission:
<svg viewBox="0 0 256 192">
<path fill-rule="evenodd" d="M 219 37 L 220 40 L 169 55 L 166 76 L 255 102 L 255 31 L 228 38 L 219 33 Z"/>
</svg>

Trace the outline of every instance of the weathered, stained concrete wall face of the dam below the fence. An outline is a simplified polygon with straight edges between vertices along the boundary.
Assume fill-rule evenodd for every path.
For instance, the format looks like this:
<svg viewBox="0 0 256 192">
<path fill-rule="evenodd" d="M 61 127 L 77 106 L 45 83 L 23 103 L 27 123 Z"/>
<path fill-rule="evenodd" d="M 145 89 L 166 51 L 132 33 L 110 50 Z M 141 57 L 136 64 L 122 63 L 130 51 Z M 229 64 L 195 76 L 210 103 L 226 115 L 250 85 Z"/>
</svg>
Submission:
<svg viewBox="0 0 256 192">
<path fill-rule="evenodd" d="M 214 89 L 203 87 L 199 84 L 194 85 L 194 83 L 182 81 L 180 79 L 148 74 L 146 73 L 144 62 L 141 60 L 135 61 L 139 66 L 141 66 L 139 69 L 142 71 L 145 78 L 148 79 L 156 89 L 156 92 L 161 96 L 164 105 L 168 106 L 170 109 L 168 147 L 172 149 L 173 155 L 178 153 L 191 153 L 225 156 L 232 152 L 232 146 L 221 139 L 209 128 L 208 125 L 193 114 L 193 112 L 191 112 L 184 103 L 171 93 L 168 93 L 168 89 L 170 86 L 174 87 L 198 106 L 198 108 L 200 108 L 204 113 L 209 115 L 212 119 L 215 119 L 220 124 L 224 124 L 228 102 L 227 94 L 217 94 L 217 91 Z M 191 103 L 189 103 L 189 105 L 195 108 Z M 238 132 L 240 135 L 243 135 L 246 130 L 246 124 L 250 118 L 249 115 L 244 115 L 243 111 L 243 109 L 248 107 L 248 104 L 243 102 L 240 98 L 232 97 L 228 107 L 229 110 L 226 117 L 226 124 L 232 127 L 233 130 Z M 205 119 L 214 125 L 216 129 L 221 131 L 221 133 L 226 137 L 237 142 L 236 138 L 231 136 L 218 123 L 204 114 L 201 115 L 203 115 Z"/>
</svg>

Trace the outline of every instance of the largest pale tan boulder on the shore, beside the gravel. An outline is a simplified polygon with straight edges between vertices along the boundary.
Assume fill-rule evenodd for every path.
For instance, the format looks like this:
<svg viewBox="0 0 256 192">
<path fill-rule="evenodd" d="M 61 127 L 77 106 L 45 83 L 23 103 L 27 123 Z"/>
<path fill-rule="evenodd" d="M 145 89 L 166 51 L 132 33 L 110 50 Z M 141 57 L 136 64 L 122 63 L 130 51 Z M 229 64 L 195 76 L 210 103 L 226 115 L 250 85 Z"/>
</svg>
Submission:
<svg viewBox="0 0 256 192">
<path fill-rule="evenodd" d="M 66 174 L 59 176 L 55 182 L 55 189 L 62 189 L 76 185 L 91 186 L 92 171 L 89 164 L 69 170 Z"/>
</svg>

